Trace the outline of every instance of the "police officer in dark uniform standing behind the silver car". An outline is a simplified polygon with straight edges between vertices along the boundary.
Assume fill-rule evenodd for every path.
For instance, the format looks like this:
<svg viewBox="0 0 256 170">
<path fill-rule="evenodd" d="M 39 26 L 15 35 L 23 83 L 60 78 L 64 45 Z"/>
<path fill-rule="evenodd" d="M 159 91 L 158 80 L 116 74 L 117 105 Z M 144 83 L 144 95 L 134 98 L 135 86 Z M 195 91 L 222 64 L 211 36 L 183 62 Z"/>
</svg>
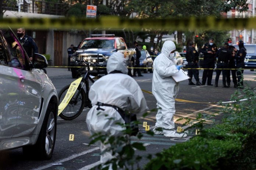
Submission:
<svg viewBox="0 0 256 170">
<path fill-rule="evenodd" d="M 23 27 L 17 29 L 17 37 L 21 42 L 21 45 L 25 49 L 29 59 L 32 61 L 33 54 L 38 53 L 38 47 L 36 46 L 35 41 L 33 40 L 32 37 L 26 34 L 26 30 Z M 33 49 L 33 53 L 32 53 L 32 49 Z"/>
</svg>

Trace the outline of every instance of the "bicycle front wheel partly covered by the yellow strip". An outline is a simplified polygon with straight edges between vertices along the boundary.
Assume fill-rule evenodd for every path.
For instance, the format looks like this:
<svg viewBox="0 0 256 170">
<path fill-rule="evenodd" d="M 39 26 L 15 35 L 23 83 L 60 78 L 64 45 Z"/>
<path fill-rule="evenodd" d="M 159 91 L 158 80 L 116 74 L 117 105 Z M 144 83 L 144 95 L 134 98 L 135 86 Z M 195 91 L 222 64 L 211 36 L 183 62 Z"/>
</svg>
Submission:
<svg viewBox="0 0 256 170">
<path fill-rule="evenodd" d="M 60 90 L 58 93 L 59 97 L 59 104 L 64 99 L 65 95 L 67 94 L 68 88 L 70 85 L 65 86 Z M 86 95 L 85 91 L 81 89 L 81 84 L 78 86 L 77 91 L 75 92 L 74 96 L 68 103 L 67 107 L 60 113 L 60 117 L 64 120 L 70 121 L 75 118 L 77 118 L 83 111 L 83 108 L 85 107 L 85 101 L 86 101 Z M 79 92 L 80 90 L 80 92 Z M 79 96 L 77 97 L 77 100 L 75 100 L 75 96 L 77 96 L 77 93 L 79 92 Z"/>
</svg>

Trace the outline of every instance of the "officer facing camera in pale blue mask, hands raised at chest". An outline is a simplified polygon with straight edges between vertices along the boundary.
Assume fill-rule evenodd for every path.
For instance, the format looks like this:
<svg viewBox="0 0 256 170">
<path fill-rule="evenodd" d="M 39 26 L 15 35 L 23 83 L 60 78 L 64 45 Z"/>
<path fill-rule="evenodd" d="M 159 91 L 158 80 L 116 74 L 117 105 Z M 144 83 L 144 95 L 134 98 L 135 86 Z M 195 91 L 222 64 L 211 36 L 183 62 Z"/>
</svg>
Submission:
<svg viewBox="0 0 256 170">
<path fill-rule="evenodd" d="M 213 78 L 213 69 L 215 66 L 215 56 L 216 52 L 218 51 L 217 45 L 214 44 L 214 39 L 210 38 L 209 42 L 205 43 L 201 49 L 203 53 L 203 77 L 202 77 L 202 84 L 205 85 L 207 79 L 207 85 L 211 84 L 211 79 Z"/>
</svg>

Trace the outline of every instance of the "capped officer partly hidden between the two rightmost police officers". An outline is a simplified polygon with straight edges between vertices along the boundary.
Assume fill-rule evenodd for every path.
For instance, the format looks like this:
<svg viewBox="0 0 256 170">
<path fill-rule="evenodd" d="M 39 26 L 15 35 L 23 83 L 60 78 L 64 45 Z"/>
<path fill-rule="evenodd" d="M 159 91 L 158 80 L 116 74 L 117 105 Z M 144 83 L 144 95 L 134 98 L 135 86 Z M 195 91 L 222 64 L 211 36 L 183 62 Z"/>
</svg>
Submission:
<svg viewBox="0 0 256 170">
<path fill-rule="evenodd" d="M 236 53 L 238 50 L 237 48 L 235 48 L 233 45 L 232 45 L 232 40 L 231 38 L 228 38 L 227 39 L 227 43 L 228 43 L 228 50 L 230 50 L 231 53 Z M 237 75 L 236 75 L 236 67 L 235 67 L 235 58 L 234 56 L 231 57 L 230 59 L 230 62 L 228 63 L 228 69 L 230 70 L 227 70 L 227 86 L 230 87 L 230 71 L 231 71 L 231 74 L 232 74 L 232 81 L 234 83 L 234 88 L 237 88 Z"/>
</svg>

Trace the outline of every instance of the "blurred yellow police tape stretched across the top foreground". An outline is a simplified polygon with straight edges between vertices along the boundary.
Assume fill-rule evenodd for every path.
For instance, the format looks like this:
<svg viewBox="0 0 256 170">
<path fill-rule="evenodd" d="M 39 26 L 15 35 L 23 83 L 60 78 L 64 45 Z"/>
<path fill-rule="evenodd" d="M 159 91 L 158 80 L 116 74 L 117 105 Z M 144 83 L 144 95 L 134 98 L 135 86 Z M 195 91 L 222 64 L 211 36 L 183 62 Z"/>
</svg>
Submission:
<svg viewBox="0 0 256 170">
<path fill-rule="evenodd" d="M 1 27 L 26 27 L 26 29 L 123 29 L 133 30 L 231 30 L 256 28 L 256 18 L 121 18 L 119 16 L 100 16 L 96 19 L 82 17 L 63 18 L 3 18 Z"/>
</svg>

